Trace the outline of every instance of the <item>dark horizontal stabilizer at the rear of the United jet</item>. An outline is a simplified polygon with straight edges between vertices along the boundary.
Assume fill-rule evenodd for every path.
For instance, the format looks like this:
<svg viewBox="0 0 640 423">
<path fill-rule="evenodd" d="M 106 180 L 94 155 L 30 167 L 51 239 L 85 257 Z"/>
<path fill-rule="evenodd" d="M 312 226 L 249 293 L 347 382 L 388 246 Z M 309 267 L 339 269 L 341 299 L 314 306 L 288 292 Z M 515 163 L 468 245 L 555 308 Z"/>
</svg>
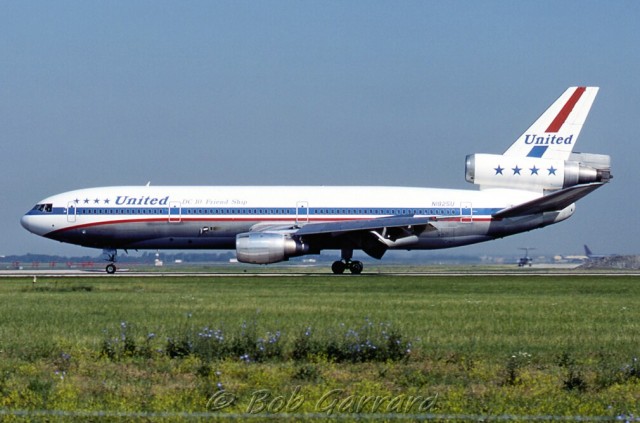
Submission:
<svg viewBox="0 0 640 423">
<path fill-rule="evenodd" d="M 600 188 L 604 184 L 604 182 L 595 182 L 591 184 L 575 185 L 570 188 L 565 188 L 552 194 L 545 195 L 544 197 L 536 198 L 535 200 L 500 210 L 492 216 L 495 218 L 518 217 L 562 210 L 590 192 Z"/>
</svg>

